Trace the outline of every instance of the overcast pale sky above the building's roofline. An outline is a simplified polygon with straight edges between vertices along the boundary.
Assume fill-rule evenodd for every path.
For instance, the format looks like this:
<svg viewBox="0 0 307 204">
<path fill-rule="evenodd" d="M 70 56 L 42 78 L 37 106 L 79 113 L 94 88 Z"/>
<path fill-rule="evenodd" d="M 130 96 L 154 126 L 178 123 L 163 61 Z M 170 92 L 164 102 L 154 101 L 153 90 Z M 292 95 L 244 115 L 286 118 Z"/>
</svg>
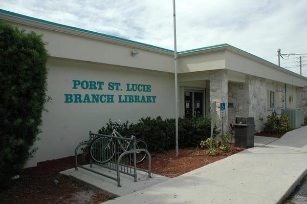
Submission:
<svg viewBox="0 0 307 204">
<path fill-rule="evenodd" d="M 0 8 L 173 50 L 172 0 L 0 0 Z M 275 64 L 278 48 L 307 53 L 307 0 L 177 0 L 176 15 L 178 51 L 227 43 Z M 281 66 L 299 73 L 295 57 Z"/>
</svg>

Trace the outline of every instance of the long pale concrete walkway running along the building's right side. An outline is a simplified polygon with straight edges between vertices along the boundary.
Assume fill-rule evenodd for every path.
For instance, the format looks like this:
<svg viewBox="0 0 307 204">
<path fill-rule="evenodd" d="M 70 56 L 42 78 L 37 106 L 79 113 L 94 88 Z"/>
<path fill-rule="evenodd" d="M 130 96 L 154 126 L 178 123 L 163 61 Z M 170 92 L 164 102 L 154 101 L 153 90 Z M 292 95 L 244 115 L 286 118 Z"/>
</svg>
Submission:
<svg viewBox="0 0 307 204">
<path fill-rule="evenodd" d="M 105 203 L 281 203 L 307 173 L 307 127 Z"/>
</svg>

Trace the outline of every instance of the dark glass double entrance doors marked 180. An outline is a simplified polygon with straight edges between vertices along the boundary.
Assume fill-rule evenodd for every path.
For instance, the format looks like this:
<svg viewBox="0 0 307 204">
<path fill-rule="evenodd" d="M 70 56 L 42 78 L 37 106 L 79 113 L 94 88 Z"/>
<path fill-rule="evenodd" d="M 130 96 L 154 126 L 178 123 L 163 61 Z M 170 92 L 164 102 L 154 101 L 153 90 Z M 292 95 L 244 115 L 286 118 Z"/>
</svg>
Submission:
<svg viewBox="0 0 307 204">
<path fill-rule="evenodd" d="M 204 92 L 185 91 L 184 92 L 184 116 L 201 117 L 204 115 Z"/>
</svg>

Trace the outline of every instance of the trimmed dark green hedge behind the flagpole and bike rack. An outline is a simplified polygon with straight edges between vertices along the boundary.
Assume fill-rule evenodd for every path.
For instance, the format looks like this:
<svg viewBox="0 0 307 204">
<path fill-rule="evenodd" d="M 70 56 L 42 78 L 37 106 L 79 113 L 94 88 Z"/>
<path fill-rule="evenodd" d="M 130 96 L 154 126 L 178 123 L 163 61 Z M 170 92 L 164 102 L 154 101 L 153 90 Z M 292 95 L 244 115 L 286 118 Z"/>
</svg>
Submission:
<svg viewBox="0 0 307 204">
<path fill-rule="evenodd" d="M 99 134 L 110 135 L 116 129 L 125 137 L 135 135 L 137 139 L 144 139 L 150 152 L 161 152 L 175 147 L 175 119 L 163 120 L 157 118 L 141 118 L 137 124 L 114 123 L 109 120 L 105 127 L 99 129 Z M 214 135 L 216 135 L 214 128 Z M 210 137 L 211 119 L 206 117 L 179 118 L 179 147 L 196 147 L 201 140 Z"/>
</svg>

